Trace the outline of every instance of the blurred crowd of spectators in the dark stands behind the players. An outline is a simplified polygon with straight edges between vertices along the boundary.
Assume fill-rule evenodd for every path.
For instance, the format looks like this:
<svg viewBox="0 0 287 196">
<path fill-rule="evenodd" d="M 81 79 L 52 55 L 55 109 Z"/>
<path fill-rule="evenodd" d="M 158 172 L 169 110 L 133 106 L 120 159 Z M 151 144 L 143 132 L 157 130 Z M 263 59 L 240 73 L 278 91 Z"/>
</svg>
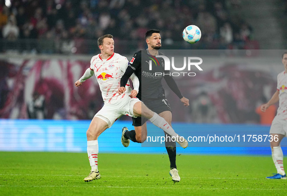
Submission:
<svg viewBox="0 0 287 196">
<path fill-rule="evenodd" d="M 37 52 L 75 53 L 106 33 L 143 48 L 145 32 L 156 28 L 164 46 L 180 49 L 183 29 L 195 24 L 202 30 L 200 49 L 244 49 L 252 27 L 230 17 L 240 6 L 240 0 L 0 0 L 0 39 L 36 39 L 43 41 Z"/>
</svg>

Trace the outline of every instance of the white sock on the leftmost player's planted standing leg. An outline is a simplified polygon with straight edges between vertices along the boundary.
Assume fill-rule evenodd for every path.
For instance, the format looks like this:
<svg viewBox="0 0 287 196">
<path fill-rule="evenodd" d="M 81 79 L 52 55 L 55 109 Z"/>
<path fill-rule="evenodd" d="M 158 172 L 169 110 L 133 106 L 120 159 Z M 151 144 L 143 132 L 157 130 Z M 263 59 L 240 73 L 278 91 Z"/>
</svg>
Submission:
<svg viewBox="0 0 287 196">
<path fill-rule="evenodd" d="M 98 140 L 87 141 L 87 152 L 92 171 L 98 172 L 98 153 L 99 145 Z"/>
</svg>

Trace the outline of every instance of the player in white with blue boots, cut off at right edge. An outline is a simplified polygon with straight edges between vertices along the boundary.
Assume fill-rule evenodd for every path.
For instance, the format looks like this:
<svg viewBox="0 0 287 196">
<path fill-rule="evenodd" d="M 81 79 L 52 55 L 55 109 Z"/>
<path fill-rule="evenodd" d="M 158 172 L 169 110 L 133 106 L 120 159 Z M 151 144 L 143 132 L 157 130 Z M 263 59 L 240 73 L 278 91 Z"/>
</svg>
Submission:
<svg viewBox="0 0 287 196">
<path fill-rule="evenodd" d="M 277 90 L 272 98 L 261 106 L 261 111 L 265 112 L 270 105 L 279 100 L 279 108 L 270 127 L 270 134 L 272 135 L 270 146 L 277 174 L 266 177 L 268 179 L 287 179 L 283 167 L 283 152 L 280 147 L 281 140 L 287 137 L 287 51 L 282 55 L 282 63 L 285 70 L 277 76 Z"/>
</svg>

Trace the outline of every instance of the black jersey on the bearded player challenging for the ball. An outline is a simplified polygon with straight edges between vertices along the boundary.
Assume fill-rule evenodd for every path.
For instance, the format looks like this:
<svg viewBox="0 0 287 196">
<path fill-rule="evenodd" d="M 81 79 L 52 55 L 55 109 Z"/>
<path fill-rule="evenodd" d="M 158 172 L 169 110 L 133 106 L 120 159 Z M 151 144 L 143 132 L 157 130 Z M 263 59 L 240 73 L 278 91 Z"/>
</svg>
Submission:
<svg viewBox="0 0 287 196">
<path fill-rule="evenodd" d="M 152 70 L 150 70 L 150 61 Z M 147 50 L 140 50 L 135 53 L 129 66 L 135 70 L 135 75 L 139 79 L 140 85 L 137 98 L 143 101 L 165 98 L 165 90 L 161 81 L 164 76 L 163 73 L 168 74 L 169 71 L 164 70 L 164 60 L 162 58 L 152 56 Z"/>
</svg>

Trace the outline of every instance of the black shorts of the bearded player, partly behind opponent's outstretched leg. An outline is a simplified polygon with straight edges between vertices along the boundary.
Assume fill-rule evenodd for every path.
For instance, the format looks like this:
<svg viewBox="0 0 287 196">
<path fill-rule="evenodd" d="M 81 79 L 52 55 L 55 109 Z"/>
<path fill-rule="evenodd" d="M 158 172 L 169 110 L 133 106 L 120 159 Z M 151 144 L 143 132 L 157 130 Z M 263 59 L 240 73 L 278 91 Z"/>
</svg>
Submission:
<svg viewBox="0 0 287 196">
<path fill-rule="evenodd" d="M 168 99 L 166 98 L 161 98 L 161 99 L 155 99 L 155 100 L 151 100 L 151 101 L 145 101 L 144 104 L 151 109 L 153 112 L 160 114 L 162 112 L 165 111 L 170 111 L 171 112 L 171 108 L 169 106 L 169 102 Z M 140 127 L 143 124 L 145 124 L 145 122 L 148 121 L 147 118 L 144 117 L 137 117 L 137 118 L 133 118 L 133 126 L 135 127 Z"/>
</svg>

